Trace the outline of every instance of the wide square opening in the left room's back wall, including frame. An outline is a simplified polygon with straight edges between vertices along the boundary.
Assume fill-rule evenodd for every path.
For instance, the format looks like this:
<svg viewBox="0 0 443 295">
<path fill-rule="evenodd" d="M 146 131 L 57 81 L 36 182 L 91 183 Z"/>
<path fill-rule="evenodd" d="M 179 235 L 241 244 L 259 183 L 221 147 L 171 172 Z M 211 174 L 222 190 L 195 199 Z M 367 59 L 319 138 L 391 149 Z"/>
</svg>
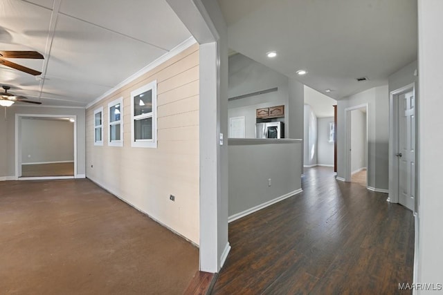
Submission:
<svg viewBox="0 0 443 295">
<path fill-rule="evenodd" d="M 17 114 L 15 123 L 17 180 L 74 178 L 75 116 Z"/>
</svg>

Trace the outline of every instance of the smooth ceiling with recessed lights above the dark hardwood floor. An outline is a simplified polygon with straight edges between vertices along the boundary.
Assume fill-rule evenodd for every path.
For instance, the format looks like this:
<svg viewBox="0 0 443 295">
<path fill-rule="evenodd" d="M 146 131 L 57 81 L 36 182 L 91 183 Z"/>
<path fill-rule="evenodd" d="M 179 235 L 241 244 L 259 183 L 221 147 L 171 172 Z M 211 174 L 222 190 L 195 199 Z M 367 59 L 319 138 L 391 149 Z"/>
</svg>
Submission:
<svg viewBox="0 0 443 295">
<path fill-rule="evenodd" d="M 416 0 L 218 2 L 230 48 L 289 77 L 305 69 L 296 79 L 334 99 L 386 84 L 417 59 Z"/>
</svg>

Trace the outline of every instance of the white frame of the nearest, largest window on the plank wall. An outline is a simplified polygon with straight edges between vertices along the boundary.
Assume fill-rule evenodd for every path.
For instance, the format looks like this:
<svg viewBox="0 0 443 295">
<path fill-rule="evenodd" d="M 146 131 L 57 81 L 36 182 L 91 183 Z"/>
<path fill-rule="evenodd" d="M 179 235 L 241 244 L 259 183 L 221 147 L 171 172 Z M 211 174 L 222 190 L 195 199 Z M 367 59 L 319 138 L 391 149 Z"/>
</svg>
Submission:
<svg viewBox="0 0 443 295">
<path fill-rule="evenodd" d="M 146 91 L 152 91 L 152 112 L 142 115 L 134 115 L 134 98 Z M 136 120 L 143 120 L 152 117 L 152 139 L 151 140 L 135 140 L 135 124 Z M 131 92 L 131 146 L 143 148 L 157 148 L 157 80 L 154 80 L 141 88 Z"/>
</svg>

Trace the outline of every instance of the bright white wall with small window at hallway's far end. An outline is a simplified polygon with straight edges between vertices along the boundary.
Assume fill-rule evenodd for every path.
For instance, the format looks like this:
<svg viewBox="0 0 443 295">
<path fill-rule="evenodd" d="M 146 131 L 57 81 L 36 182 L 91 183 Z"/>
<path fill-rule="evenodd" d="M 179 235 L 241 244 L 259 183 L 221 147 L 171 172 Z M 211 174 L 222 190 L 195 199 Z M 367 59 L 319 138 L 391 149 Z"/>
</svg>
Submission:
<svg viewBox="0 0 443 295">
<path fill-rule="evenodd" d="M 334 122 L 334 117 L 317 118 L 317 162 L 320 166 L 334 166 L 334 142 L 329 142 L 329 122 Z"/>
</svg>

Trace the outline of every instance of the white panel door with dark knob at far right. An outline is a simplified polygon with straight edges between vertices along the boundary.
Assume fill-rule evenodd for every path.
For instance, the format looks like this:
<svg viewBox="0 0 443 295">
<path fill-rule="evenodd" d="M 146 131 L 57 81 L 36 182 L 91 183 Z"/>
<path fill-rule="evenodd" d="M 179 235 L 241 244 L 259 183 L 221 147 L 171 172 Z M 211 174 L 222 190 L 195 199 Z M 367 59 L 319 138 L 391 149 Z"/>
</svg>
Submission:
<svg viewBox="0 0 443 295">
<path fill-rule="evenodd" d="M 413 91 L 399 95 L 399 203 L 415 206 L 415 97 Z"/>
</svg>

